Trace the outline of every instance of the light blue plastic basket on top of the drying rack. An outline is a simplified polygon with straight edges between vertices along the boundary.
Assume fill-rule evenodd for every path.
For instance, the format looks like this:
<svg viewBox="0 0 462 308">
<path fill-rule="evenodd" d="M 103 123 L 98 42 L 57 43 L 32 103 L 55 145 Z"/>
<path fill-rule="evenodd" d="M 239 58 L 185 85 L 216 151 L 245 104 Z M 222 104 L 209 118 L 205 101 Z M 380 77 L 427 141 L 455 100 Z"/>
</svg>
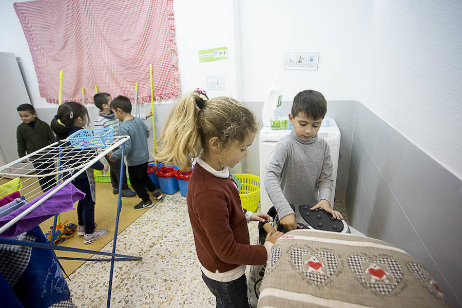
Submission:
<svg viewBox="0 0 462 308">
<path fill-rule="evenodd" d="M 76 149 L 106 147 L 114 141 L 112 127 L 80 129 L 67 137 Z"/>
</svg>

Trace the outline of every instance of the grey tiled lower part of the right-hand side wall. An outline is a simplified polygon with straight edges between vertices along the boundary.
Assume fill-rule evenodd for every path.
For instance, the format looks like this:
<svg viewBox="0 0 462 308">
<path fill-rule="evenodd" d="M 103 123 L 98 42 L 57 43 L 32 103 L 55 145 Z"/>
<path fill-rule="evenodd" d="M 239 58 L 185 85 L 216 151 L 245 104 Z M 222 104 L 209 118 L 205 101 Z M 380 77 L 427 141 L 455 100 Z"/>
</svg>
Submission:
<svg viewBox="0 0 462 308">
<path fill-rule="evenodd" d="M 407 251 L 461 306 L 462 181 L 359 102 L 345 201 L 354 228 Z"/>
</svg>

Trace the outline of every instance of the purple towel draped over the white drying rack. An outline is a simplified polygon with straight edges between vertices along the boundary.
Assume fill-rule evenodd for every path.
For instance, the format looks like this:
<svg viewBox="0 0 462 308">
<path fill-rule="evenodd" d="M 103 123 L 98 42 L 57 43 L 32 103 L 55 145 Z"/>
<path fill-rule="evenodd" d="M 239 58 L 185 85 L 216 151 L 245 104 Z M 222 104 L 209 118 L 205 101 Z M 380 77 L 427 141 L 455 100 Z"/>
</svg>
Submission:
<svg viewBox="0 0 462 308">
<path fill-rule="evenodd" d="M 50 190 L 54 189 L 50 188 Z M 7 224 L 13 218 L 23 213 L 27 208 L 35 204 L 38 200 L 41 200 L 45 197 L 46 194 L 41 195 L 38 198 L 35 198 L 29 203 L 21 206 L 12 213 L 0 218 L 0 227 Z M 4 233 L 0 234 L 3 237 L 12 237 L 23 232 L 30 230 L 36 225 L 44 222 L 51 216 L 62 213 L 73 209 L 72 205 L 85 197 L 85 194 L 79 189 L 75 188 L 72 183 L 67 184 L 60 190 L 56 191 L 53 196 L 46 200 L 41 205 L 34 208 L 29 214 L 17 221 L 14 225 L 5 230 Z"/>
</svg>

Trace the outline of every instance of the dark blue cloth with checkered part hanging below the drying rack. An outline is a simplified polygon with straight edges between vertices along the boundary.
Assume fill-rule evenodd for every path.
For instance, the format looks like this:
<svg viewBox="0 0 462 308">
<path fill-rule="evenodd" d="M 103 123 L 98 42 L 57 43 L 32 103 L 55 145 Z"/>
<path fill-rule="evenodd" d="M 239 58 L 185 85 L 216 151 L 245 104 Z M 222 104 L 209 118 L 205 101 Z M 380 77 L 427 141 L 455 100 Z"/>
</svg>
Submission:
<svg viewBox="0 0 462 308">
<path fill-rule="evenodd" d="M 48 244 L 38 226 L 27 232 L 25 240 Z M 8 292 L 0 279 L 0 307 L 46 308 L 56 303 L 59 307 L 73 307 L 69 287 L 51 249 L 21 246 L 14 252 L 0 250 L 0 274 L 14 292 Z"/>
</svg>

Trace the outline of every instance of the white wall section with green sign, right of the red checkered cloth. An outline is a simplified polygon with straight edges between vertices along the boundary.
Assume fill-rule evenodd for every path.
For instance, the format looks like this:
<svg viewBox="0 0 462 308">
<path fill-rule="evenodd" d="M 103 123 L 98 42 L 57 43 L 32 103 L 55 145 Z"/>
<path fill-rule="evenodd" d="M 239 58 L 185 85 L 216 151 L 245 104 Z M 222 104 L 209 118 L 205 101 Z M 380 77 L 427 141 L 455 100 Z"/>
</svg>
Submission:
<svg viewBox="0 0 462 308">
<path fill-rule="evenodd" d="M 206 90 L 207 76 L 219 75 L 225 78 L 225 90 L 207 94 L 236 97 L 233 0 L 175 0 L 174 9 L 181 95 L 197 87 Z M 228 59 L 199 63 L 199 50 L 224 46 L 228 48 Z"/>
</svg>

